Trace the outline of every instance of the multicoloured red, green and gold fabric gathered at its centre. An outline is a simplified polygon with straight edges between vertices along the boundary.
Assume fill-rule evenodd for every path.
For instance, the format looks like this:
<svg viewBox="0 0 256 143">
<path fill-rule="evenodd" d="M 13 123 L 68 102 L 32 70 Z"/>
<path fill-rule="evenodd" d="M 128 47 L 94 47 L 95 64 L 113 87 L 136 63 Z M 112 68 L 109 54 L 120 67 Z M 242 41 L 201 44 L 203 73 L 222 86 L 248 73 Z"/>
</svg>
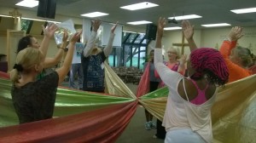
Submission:
<svg viewBox="0 0 256 143">
<path fill-rule="evenodd" d="M 54 118 L 18 125 L 9 79 L 0 78 L 0 142 L 114 142 L 131 121 L 137 105 L 162 120 L 167 88 L 137 97 L 105 64 L 109 94 L 60 87 Z M 256 75 L 219 89 L 212 107 L 214 142 L 256 140 Z"/>
</svg>

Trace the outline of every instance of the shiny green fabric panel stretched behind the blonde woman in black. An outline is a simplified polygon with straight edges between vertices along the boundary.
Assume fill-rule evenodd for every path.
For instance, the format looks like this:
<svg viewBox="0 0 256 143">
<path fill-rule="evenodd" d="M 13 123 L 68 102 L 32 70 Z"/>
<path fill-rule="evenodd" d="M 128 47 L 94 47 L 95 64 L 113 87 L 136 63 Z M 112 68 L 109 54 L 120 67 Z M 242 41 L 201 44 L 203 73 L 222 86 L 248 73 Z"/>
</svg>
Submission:
<svg viewBox="0 0 256 143">
<path fill-rule="evenodd" d="M 0 127 L 18 124 L 18 117 L 11 100 L 9 80 L 0 78 Z M 108 94 L 89 93 L 72 89 L 58 89 L 54 117 L 88 112 L 98 108 L 134 101 L 132 98 Z"/>
</svg>

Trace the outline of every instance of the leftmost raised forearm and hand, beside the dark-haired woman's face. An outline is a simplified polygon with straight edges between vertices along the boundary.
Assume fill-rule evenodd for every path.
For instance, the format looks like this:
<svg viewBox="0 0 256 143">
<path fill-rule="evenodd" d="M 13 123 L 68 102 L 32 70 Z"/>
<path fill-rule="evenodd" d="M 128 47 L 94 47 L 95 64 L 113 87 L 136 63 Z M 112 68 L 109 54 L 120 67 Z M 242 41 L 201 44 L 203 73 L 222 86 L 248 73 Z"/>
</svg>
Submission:
<svg viewBox="0 0 256 143">
<path fill-rule="evenodd" d="M 49 47 L 49 40 L 51 37 L 53 37 L 55 31 L 58 29 L 58 27 L 55 24 L 49 24 L 49 26 L 42 26 L 44 29 L 44 39 L 41 43 L 41 46 L 39 47 L 39 50 L 44 55 L 43 60 L 45 60 L 45 56 L 47 54 L 47 50 Z"/>
</svg>

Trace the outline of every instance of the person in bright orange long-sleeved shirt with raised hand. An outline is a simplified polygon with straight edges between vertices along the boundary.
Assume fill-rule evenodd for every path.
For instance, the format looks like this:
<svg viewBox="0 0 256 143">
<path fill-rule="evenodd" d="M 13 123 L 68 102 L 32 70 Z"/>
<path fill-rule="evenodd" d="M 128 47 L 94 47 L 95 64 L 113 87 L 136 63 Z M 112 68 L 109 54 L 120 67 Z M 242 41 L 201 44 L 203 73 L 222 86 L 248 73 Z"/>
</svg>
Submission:
<svg viewBox="0 0 256 143">
<path fill-rule="evenodd" d="M 253 65 L 251 51 L 240 46 L 236 47 L 237 40 L 242 36 L 242 28 L 235 26 L 230 30 L 228 39 L 224 40 L 220 47 L 220 53 L 230 71 L 229 83 L 253 74 L 248 70 Z"/>
</svg>

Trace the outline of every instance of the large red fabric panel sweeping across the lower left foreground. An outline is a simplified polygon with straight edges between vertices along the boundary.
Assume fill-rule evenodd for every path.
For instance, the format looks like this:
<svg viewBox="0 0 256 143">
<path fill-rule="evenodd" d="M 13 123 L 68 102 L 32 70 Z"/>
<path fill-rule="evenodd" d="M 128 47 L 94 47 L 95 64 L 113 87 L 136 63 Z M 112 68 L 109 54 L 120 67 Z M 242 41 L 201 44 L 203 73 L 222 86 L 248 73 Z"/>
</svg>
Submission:
<svg viewBox="0 0 256 143">
<path fill-rule="evenodd" d="M 137 101 L 91 112 L 0 129 L 0 142 L 114 142 L 131 121 Z"/>
</svg>

